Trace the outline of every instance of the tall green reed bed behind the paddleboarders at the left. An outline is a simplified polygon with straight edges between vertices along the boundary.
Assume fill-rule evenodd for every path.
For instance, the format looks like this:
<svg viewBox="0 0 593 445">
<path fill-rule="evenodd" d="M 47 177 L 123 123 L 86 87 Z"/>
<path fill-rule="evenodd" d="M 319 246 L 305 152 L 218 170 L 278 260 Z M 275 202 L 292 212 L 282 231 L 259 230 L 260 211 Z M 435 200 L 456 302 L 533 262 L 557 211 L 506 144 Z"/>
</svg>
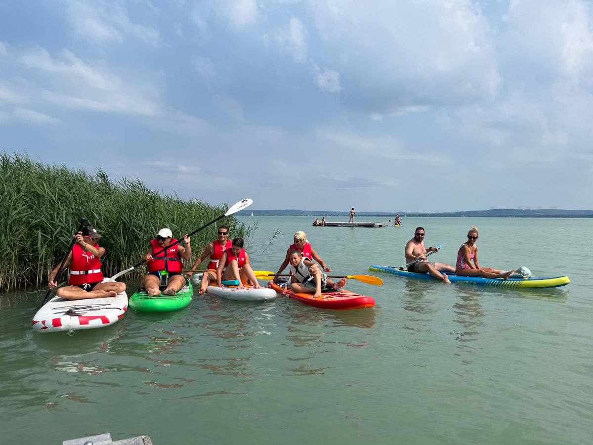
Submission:
<svg viewBox="0 0 593 445">
<path fill-rule="evenodd" d="M 103 273 L 111 276 L 135 265 L 146 253 L 149 241 L 162 227 L 180 238 L 215 220 L 228 206 L 183 201 L 177 196 L 149 190 L 139 180 L 113 181 L 98 169 L 95 173 L 49 166 L 27 155 L 0 154 L 0 290 L 21 285 L 46 285 L 50 270 L 62 259 L 80 218 L 88 218 L 103 236 Z M 234 216 L 205 228 L 192 237 L 193 261 L 210 241 L 216 227 L 228 225 L 231 237 L 248 237 L 251 229 Z M 135 278 L 145 266 L 123 276 Z M 62 272 L 60 278 L 65 279 Z"/>
</svg>

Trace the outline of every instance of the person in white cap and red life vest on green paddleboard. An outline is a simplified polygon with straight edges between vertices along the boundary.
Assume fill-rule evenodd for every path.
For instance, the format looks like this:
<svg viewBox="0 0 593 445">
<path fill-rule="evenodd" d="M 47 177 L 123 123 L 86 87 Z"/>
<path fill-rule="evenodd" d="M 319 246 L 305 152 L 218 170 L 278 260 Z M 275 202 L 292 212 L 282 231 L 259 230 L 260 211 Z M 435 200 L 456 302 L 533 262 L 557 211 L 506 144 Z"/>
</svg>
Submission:
<svg viewBox="0 0 593 445">
<path fill-rule="evenodd" d="M 192 257 L 192 243 L 187 234 L 183 236 L 184 246 L 181 244 L 171 246 L 176 241 L 169 228 L 162 228 L 150 241 L 151 245 L 144 255 L 144 259 L 148 262 L 148 275 L 142 279 L 142 287 L 146 289 L 148 295 L 160 295 L 161 287 L 165 288 L 162 292 L 165 295 L 175 295 L 184 287 L 185 278 L 181 275 L 183 269 L 181 259 Z M 167 250 L 153 256 L 165 247 Z"/>
</svg>

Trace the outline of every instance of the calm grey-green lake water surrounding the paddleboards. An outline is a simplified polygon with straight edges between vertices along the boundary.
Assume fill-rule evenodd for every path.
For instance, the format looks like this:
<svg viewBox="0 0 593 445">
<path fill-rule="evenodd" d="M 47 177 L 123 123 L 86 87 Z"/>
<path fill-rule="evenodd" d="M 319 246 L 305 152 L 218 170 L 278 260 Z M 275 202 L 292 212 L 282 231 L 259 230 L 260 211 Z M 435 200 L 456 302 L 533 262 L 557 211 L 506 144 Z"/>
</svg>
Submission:
<svg viewBox="0 0 593 445">
<path fill-rule="evenodd" d="M 241 218 L 257 222 L 254 269 L 276 271 L 304 230 L 334 272 L 381 276 L 381 287 L 346 286 L 376 306 L 329 311 L 196 291 L 184 310 L 130 310 L 116 325 L 69 336 L 31 329 L 46 290 L 5 293 L 2 443 L 109 432 L 114 440 L 148 434 L 155 445 L 591 444 L 592 220 L 402 218 L 401 228 L 322 228 L 311 227 L 315 216 Z M 403 265 L 417 225 L 426 246 L 447 243 L 433 260 L 454 264 L 477 225 L 483 266 L 527 266 L 571 282 L 504 290 L 368 272 Z"/>
</svg>

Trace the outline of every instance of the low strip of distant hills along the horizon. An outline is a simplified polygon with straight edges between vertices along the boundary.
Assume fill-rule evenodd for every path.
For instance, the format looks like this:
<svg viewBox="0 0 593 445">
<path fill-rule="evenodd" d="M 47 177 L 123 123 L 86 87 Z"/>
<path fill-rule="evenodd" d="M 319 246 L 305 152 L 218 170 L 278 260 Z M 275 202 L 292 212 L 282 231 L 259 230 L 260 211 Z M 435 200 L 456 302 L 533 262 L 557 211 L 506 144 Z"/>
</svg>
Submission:
<svg viewBox="0 0 593 445">
<path fill-rule="evenodd" d="M 266 216 L 310 216 L 310 217 L 348 217 L 349 212 L 274 209 L 274 210 L 242 210 L 237 215 Z M 462 212 L 421 213 L 421 212 L 356 212 L 356 216 L 364 217 L 488 217 L 488 218 L 593 218 L 593 210 L 563 209 L 490 209 L 468 210 Z"/>
</svg>

